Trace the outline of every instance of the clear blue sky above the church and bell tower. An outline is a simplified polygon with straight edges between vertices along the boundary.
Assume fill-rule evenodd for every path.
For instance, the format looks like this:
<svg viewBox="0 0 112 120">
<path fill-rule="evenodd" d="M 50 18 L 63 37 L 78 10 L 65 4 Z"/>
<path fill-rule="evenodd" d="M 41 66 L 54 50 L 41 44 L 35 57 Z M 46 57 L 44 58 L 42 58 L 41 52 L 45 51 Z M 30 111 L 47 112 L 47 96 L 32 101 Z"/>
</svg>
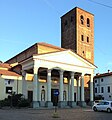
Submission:
<svg viewBox="0 0 112 120">
<path fill-rule="evenodd" d="M 0 60 L 38 42 L 60 47 L 60 17 L 76 6 L 94 14 L 95 73 L 112 71 L 112 0 L 0 0 Z"/>
</svg>

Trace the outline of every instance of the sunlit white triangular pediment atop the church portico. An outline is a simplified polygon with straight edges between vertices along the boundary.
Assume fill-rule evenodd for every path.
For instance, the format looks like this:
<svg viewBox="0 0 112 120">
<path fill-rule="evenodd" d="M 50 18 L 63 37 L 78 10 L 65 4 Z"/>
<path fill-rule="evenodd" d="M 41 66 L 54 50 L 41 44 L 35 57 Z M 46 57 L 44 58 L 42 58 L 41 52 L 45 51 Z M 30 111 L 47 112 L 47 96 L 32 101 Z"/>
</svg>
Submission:
<svg viewBox="0 0 112 120">
<path fill-rule="evenodd" d="M 65 50 L 65 51 L 48 53 L 48 54 L 40 54 L 40 55 L 35 55 L 35 57 L 39 59 L 48 60 L 48 61 L 59 62 L 62 64 L 96 68 L 95 65 L 91 64 L 90 62 L 83 59 L 76 53 L 72 52 L 71 50 Z"/>
</svg>

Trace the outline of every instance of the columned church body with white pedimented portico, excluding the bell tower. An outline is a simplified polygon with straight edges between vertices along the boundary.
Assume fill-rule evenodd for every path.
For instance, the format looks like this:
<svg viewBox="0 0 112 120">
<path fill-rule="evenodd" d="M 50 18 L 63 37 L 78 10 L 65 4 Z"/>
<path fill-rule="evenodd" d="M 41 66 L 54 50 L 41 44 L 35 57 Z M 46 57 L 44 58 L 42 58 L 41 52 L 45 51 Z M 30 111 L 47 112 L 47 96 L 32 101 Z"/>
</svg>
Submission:
<svg viewBox="0 0 112 120">
<path fill-rule="evenodd" d="M 36 43 L 6 61 L 17 63 L 22 71 L 22 93 L 33 108 L 85 106 L 84 76 L 90 76 L 90 102 L 93 102 L 93 73 L 96 66 L 75 52 L 47 43 Z M 59 96 L 55 96 L 59 91 Z"/>
</svg>

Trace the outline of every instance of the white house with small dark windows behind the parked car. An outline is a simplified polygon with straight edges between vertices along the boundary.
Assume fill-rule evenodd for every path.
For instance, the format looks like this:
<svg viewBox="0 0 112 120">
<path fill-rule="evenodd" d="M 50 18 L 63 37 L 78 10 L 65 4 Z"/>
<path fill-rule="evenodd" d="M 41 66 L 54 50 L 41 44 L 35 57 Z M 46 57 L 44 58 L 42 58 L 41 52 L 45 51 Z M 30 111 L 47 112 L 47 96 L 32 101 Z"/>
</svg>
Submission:
<svg viewBox="0 0 112 120">
<path fill-rule="evenodd" d="M 96 99 L 112 100 L 112 72 L 94 76 L 94 92 Z"/>
</svg>

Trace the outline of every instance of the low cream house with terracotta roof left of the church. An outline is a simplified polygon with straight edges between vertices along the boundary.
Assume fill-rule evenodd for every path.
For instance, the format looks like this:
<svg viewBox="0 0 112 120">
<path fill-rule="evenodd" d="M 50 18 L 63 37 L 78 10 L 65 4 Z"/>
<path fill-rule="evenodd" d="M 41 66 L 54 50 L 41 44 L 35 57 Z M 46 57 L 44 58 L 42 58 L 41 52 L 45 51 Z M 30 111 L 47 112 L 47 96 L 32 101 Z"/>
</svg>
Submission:
<svg viewBox="0 0 112 120">
<path fill-rule="evenodd" d="M 13 64 L 0 63 L 0 100 L 4 100 L 12 92 L 22 93 L 22 77 L 12 71 Z"/>
</svg>

